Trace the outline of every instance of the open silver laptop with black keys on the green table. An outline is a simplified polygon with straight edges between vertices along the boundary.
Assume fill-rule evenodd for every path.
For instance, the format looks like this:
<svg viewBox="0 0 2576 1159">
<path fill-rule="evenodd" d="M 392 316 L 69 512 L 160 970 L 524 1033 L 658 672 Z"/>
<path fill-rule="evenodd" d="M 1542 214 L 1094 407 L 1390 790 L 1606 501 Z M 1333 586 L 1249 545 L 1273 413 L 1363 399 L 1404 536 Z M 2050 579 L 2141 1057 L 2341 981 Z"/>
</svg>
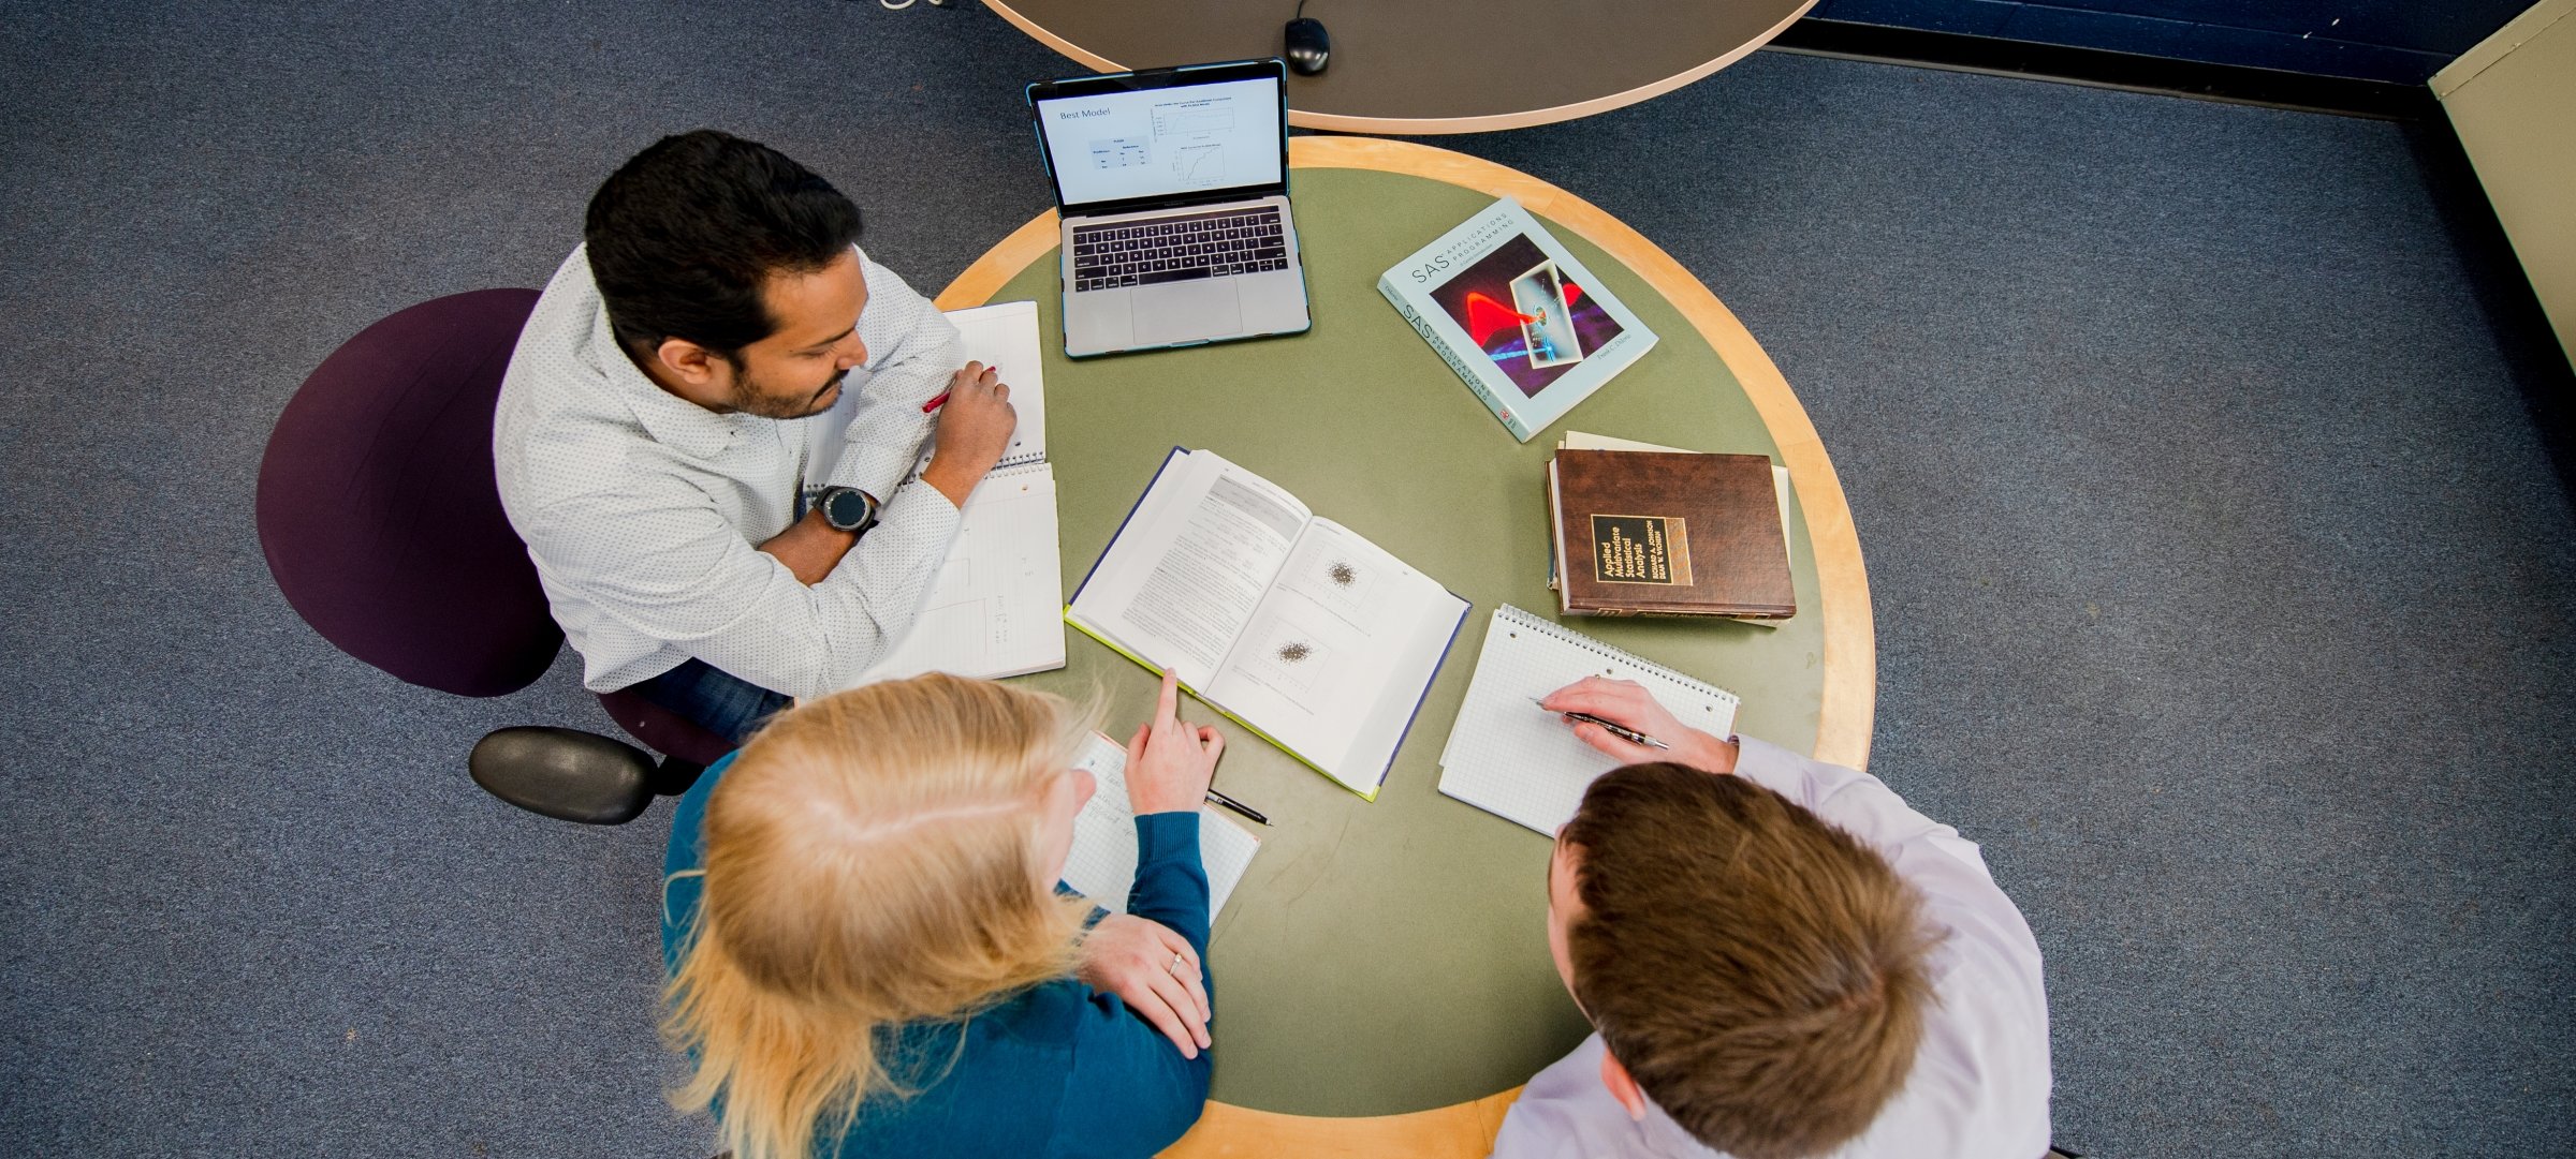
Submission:
<svg viewBox="0 0 2576 1159">
<path fill-rule="evenodd" d="M 1072 358 L 1306 332 L 1285 64 L 1028 85 L 1064 219 Z"/>
</svg>

